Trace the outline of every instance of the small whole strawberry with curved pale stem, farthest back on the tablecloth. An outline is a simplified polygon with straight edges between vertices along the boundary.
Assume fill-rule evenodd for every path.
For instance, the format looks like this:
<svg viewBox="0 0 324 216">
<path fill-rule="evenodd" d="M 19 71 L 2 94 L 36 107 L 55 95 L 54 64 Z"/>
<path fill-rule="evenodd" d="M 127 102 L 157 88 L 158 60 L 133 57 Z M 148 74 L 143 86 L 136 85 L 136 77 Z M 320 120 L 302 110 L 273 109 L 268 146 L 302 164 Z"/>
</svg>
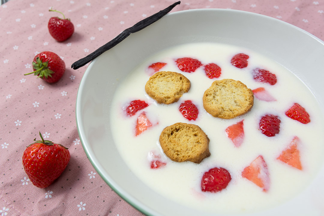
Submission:
<svg viewBox="0 0 324 216">
<path fill-rule="evenodd" d="M 70 19 L 65 19 L 63 13 L 57 10 L 50 9 L 49 11 L 55 11 L 63 15 L 63 19 L 59 17 L 51 17 L 48 21 L 48 30 L 52 37 L 62 42 L 70 38 L 74 32 L 74 25 Z"/>
</svg>

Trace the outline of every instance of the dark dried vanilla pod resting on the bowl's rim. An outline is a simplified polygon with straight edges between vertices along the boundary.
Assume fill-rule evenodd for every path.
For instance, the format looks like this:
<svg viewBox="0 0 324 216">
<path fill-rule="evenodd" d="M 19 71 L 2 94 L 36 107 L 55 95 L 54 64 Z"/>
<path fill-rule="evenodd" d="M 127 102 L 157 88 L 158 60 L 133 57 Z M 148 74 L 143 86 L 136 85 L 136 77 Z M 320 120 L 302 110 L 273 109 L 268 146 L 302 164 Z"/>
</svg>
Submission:
<svg viewBox="0 0 324 216">
<path fill-rule="evenodd" d="M 74 70 L 76 70 L 76 69 L 78 69 L 78 68 L 86 65 L 87 63 L 91 62 L 93 59 L 95 59 L 96 57 L 98 57 L 99 55 L 101 55 L 102 53 L 104 53 L 105 51 L 110 50 L 111 48 L 113 48 L 114 46 L 116 46 L 122 40 L 124 40 L 125 38 L 127 38 L 131 33 L 135 33 L 137 31 L 140 31 L 143 28 L 151 25 L 155 21 L 159 20 L 164 15 L 166 15 L 168 12 L 170 12 L 176 5 L 179 5 L 179 4 L 180 4 L 180 1 L 174 3 L 174 4 L 170 5 L 170 6 L 168 6 L 167 8 L 165 8 L 165 9 L 157 12 L 156 14 L 153 14 L 152 16 L 149 16 L 149 17 L 147 17 L 147 18 L 139 21 L 138 23 L 136 23 L 132 27 L 125 29 L 117 37 L 115 37 L 114 39 L 110 40 L 108 43 L 106 43 L 105 45 L 101 46 L 96 51 L 90 53 L 86 57 L 84 57 L 84 58 L 76 61 L 75 63 L 73 63 L 71 65 L 71 68 L 73 68 Z"/>
</svg>

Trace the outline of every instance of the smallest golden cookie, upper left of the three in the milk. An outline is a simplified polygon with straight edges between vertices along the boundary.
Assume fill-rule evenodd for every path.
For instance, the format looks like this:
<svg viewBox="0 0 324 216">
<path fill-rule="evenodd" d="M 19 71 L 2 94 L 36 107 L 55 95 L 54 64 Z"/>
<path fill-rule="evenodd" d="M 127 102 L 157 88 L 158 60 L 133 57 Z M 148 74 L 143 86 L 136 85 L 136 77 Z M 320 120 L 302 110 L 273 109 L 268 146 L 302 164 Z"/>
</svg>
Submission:
<svg viewBox="0 0 324 216">
<path fill-rule="evenodd" d="M 183 93 L 190 89 L 190 81 L 182 74 L 160 71 L 153 74 L 146 82 L 146 93 L 158 103 L 177 102 Z"/>
</svg>

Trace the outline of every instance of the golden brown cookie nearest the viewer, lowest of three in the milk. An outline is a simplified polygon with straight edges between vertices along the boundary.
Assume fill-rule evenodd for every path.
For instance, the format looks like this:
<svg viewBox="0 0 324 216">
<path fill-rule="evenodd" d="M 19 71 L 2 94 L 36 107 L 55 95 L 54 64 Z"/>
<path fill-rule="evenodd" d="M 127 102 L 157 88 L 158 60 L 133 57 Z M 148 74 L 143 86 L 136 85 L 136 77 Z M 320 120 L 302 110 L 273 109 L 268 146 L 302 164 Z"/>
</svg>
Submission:
<svg viewBox="0 0 324 216">
<path fill-rule="evenodd" d="M 199 164 L 210 156 L 209 138 L 197 125 L 175 123 L 163 129 L 160 145 L 173 161 L 191 161 Z"/>
</svg>

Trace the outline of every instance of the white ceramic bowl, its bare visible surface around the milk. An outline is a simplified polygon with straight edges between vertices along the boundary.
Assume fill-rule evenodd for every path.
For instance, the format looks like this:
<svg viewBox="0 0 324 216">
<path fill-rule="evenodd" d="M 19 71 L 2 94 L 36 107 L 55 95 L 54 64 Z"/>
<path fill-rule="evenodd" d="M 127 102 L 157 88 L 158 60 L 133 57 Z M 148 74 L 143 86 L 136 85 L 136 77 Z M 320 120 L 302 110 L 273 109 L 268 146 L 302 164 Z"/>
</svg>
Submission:
<svg viewBox="0 0 324 216">
<path fill-rule="evenodd" d="M 237 10 L 195 9 L 170 13 L 131 34 L 88 66 L 77 94 L 76 122 L 83 148 L 99 175 L 117 194 L 147 215 L 207 216 L 210 213 L 181 206 L 141 182 L 114 145 L 110 124 L 105 120 L 109 114 L 103 110 L 110 109 L 118 85 L 116 80 L 122 80 L 152 54 L 190 42 L 221 42 L 262 53 L 298 76 L 323 107 L 324 43 L 281 20 Z M 321 111 L 324 113 L 323 108 Z M 324 194 L 323 178 L 322 166 L 314 182 L 297 197 L 250 215 L 315 215 L 319 210 L 312 204 L 313 191 Z M 323 200 L 323 196 L 317 198 Z"/>
</svg>

